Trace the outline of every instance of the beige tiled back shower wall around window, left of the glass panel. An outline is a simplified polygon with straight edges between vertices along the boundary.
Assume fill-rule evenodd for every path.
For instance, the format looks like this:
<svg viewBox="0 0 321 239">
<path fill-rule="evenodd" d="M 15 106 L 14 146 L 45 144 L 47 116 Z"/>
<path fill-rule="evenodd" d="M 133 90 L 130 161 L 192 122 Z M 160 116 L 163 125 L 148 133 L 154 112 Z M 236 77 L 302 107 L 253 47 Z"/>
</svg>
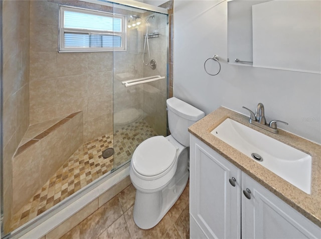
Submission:
<svg viewBox="0 0 321 239">
<path fill-rule="evenodd" d="M 59 53 L 58 2 L 30 3 L 30 124 L 83 111 L 87 142 L 112 132 L 113 53 Z"/>
</svg>

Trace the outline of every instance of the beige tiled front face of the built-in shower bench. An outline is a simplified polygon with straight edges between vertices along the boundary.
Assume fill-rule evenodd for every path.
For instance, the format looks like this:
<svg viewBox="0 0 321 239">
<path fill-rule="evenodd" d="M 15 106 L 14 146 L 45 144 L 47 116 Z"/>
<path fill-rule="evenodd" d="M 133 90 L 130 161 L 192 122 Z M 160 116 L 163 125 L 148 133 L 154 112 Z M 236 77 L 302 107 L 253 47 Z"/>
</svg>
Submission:
<svg viewBox="0 0 321 239">
<path fill-rule="evenodd" d="M 82 145 L 82 135 L 83 114 L 79 112 L 70 119 L 65 118 L 56 129 L 20 154 L 16 153 L 13 158 L 13 213 L 19 211 Z M 49 192 L 48 198 L 55 193 Z"/>
</svg>

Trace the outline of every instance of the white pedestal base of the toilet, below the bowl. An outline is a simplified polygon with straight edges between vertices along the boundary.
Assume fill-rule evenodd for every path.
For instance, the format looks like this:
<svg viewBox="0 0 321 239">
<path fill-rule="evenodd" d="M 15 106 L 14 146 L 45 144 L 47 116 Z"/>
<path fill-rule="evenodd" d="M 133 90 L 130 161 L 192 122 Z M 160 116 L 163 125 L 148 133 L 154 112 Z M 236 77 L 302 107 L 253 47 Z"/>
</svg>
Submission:
<svg viewBox="0 0 321 239">
<path fill-rule="evenodd" d="M 136 190 L 133 212 L 135 224 L 141 229 L 154 227 L 180 197 L 188 179 L 189 171 L 186 170 L 179 178 L 175 175 L 161 191 L 145 193 Z"/>
</svg>

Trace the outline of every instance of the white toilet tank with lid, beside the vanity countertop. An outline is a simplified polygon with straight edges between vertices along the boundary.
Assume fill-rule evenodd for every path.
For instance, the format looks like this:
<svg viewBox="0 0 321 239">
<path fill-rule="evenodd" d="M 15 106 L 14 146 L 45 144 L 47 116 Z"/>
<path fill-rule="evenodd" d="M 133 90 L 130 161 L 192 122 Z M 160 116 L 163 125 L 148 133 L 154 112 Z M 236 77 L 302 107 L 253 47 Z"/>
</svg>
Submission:
<svg viewBox="0 0 321 239">
<path fill-rule="evenodd" d="M 188 127 L 203 118 L 205 113 L 176 97 L 167 99 L 166 103 L 172 136 L 184 146 L 189 146 Z"/>
</svg>

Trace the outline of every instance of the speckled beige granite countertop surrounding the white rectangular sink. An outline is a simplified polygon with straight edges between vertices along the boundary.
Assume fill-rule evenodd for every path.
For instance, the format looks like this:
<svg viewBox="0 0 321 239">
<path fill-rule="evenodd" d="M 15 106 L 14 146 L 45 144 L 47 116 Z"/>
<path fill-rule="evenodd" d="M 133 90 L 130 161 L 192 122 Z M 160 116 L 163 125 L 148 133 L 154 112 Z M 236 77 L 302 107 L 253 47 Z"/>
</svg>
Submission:
<svg viewBox="0 0 321 239">
<path fill-rule="evenodd" d="M 212 135 L 210 132 L 226 118 L 231 118 L 310 154 L 312 157 L 311 194 L 303 192 L 258 162 L 255 162 L 253 159 Z M 190 126 L 189 132 L 321 227 L 321 145 L 281 129 L 279 129 L 278 134 L 271 133 L 250 124 L 248 119 L 248 116 L 225 107 L 220 107 Z"/>
</svg>

